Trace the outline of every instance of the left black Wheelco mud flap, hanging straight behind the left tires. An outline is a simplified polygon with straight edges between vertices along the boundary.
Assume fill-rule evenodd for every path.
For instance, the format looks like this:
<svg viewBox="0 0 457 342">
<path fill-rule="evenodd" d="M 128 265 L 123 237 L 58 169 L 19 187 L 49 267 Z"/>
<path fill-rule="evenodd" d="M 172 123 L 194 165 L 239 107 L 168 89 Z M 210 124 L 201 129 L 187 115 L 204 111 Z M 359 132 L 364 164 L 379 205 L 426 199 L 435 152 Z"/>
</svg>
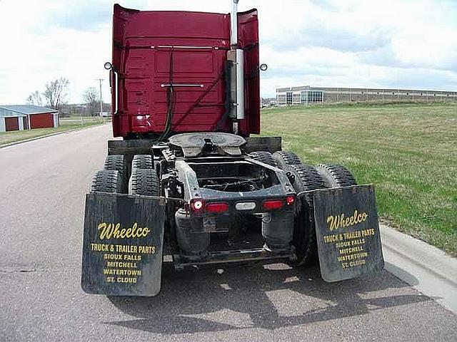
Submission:
<svg viewBox="0 0 457 342">
<path fill-rule="evenodd" d="M 155 296 L 161 287 L 163 197 L 86 195 L 82 289 L 109 296 Z"/>
</svg>

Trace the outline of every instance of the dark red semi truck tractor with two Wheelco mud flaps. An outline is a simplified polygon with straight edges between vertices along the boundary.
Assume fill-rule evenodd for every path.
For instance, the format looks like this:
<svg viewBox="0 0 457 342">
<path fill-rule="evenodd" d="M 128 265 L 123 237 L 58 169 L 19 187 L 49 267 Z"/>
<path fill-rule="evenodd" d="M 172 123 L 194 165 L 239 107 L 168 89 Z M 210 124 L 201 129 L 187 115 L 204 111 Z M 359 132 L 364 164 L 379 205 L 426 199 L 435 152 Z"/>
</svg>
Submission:
<svg viewBox="0 0 457 342">
<path fill-rule="evenodd" d="M 84 291 L 155 296 L 165 263 L 318 264 L 326 281 L 382 269 L 373 185 L 259 136 L 258 12 L 237 5 L 114 5 L 116 139 L 86 195 Z"/>
</svg>

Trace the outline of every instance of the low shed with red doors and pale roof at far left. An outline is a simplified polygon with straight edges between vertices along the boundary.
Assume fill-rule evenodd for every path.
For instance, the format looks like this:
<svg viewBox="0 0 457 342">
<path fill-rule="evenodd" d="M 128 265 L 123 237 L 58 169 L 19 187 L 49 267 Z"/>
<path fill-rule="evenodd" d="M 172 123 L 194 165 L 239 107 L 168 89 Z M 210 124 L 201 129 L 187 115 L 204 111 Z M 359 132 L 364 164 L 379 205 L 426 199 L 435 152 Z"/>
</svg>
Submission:
<svg viewBox="0 0 457 342">
<path fill-rule="evenodd" d="M 0 132 L 59 127 L 59 111 L 38 105 L 0 105 Z"/>
</svg>

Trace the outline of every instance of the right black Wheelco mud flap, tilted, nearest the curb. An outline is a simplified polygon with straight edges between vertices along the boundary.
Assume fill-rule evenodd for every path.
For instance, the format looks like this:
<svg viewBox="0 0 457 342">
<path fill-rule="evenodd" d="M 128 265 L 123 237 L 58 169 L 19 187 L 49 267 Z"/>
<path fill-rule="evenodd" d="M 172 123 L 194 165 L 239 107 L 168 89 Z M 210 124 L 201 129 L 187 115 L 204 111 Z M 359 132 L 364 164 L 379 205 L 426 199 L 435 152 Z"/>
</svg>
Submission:
<svg viewBox="0 0 457 342">
<path fill-rule="evenodd" d="M 321 276 L 341 281 L 384 266 L 373 185 L 313 192 Z"/>
</svg>

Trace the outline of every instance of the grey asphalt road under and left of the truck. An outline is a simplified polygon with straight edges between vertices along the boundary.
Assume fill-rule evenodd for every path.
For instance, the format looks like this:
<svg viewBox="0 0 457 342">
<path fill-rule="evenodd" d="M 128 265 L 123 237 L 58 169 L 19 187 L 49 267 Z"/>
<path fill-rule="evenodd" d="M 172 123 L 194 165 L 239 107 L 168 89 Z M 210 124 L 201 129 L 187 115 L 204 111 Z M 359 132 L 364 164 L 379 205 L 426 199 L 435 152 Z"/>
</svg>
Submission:
<svg viewBox="0 0 457 342">
<path fill-rule="evenodd" d="M 84 294 L 84 193 L 110 132 L 0 149 L 0 341 L 456 341 L 456 316 L 387 271 L 166 267 L 154 298 Z"/>
</svg>

